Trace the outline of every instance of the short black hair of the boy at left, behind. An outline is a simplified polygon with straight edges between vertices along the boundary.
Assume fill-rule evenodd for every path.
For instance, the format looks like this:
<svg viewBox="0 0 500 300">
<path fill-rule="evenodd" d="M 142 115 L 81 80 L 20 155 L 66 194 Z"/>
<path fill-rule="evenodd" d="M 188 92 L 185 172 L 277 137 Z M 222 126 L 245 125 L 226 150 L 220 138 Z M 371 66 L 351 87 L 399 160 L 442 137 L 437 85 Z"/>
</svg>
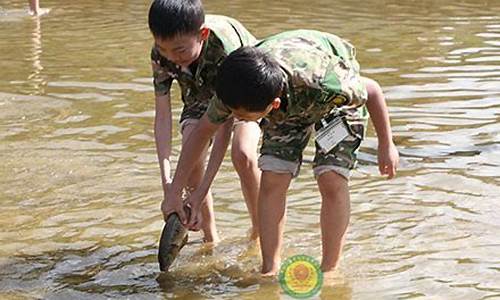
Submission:
<svg viewBox="0 0 500 300">
<path fill-rule="evenodd" d="M 204 22 L 201 0 L 154 0 L 149 8 L 149 30 L 157 38 L 196 33 Z"/>
</svg>

